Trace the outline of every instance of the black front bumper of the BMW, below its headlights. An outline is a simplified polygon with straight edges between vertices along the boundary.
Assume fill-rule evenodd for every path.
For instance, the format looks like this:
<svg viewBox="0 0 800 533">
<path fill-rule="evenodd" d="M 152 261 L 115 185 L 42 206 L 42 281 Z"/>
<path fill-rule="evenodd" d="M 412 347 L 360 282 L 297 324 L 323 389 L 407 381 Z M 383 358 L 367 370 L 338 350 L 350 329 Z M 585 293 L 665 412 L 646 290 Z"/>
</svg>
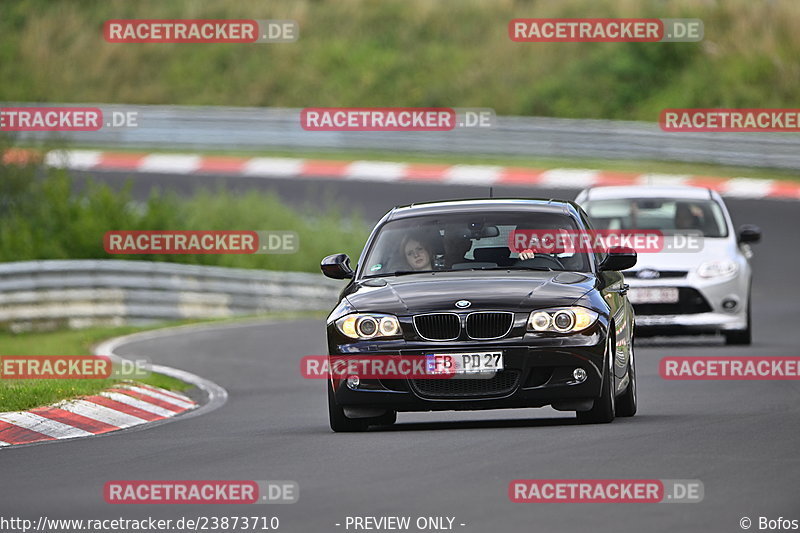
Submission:
<svg viewBox="0 0 800 533">
<path fill-rule="evenodd" d="M 329 332 L 330 333 L 330 332 Z M 406 342 L 331 345 L 334 354 L 420 356 L 429 353 L 501 351 L 504 369 L 494 377 L 450 379 L 362 379 L 355 389 L 332 379 L 336 403 L 348 416 L 371 416 L 375 410 L 445 411 L 552 405 L 562 410 L 590 409 L 601 394 L 606 328 L 596 324 L 568 337 L 526 334 L 503 342 Z M 329 338 L 330 340 L 330 338 Z M 391 345 L 394 346 L 391 346 Z M 583 368 L 587 379 L 573 377 Z M 360 409 L 365 408 L 365 409 Z"/>
</svg>

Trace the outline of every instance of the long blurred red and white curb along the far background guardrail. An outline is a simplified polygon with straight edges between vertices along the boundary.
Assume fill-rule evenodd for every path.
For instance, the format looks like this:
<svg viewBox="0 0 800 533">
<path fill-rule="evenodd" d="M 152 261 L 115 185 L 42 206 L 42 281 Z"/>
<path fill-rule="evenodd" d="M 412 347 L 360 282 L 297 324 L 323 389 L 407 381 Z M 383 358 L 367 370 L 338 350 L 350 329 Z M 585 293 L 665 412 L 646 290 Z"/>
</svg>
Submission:
<svg viewBox="0 0 800 533">
<path fill-rule="evenodd" d="M 29 157 L 29 152 L 6 152 L 4 160 Z M 276 157 L 228 157 L 193 154 L 118 153 L 97 150 L 52 151 L 45 163 L 75 170 L 128 171 L 177 175 L 252 178 L 334 178 L 374 182 L 506 185 L 554 189 L 583 189 L 603 185 L 693 185 L 734 198 L 800 200 L 800 183 L 748 177 L 680 174 L 642 174 L 578 168 L 536 169 L 492 165 L 443 165 L 386 161 L 333 161 Z"/>
</svg>

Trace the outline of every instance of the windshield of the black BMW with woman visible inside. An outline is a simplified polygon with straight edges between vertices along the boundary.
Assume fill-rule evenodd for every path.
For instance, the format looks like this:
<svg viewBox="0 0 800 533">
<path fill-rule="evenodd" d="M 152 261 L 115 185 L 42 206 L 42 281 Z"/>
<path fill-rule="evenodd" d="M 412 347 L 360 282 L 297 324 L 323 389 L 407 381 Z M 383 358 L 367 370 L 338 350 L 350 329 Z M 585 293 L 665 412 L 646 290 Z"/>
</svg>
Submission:
<svg viewBox="0 0 800 533">
<path fill-rule="evenodd" d="M 585 252 L 530 253 L 514 245 L 516 233 L 576 231 L 558 213 L 448 214 L 403 218 L 384 224 L 363 261 L 363 277 L 457 270 L 559 270 L 589 272 Z"/>
</svg>

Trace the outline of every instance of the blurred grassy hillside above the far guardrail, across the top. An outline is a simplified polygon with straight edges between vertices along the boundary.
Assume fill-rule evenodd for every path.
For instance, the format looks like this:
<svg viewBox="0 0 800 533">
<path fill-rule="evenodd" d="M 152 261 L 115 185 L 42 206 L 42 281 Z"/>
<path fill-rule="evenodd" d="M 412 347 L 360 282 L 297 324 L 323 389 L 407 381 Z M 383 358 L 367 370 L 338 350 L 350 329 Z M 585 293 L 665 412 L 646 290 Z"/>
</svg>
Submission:
<svg viewBox="0 0 800 533">
<path fill-rule="evenodd" d="M 525 17 L 699 18 L 699 43 L 515 43 Z M 110 18 L 293 19 L 290 44 L 112 44 Z M 726 0 L 4 0 L 0 101 L 491 107 L 656 121 L 796 107 L 800 3 Z"/>
</svg>

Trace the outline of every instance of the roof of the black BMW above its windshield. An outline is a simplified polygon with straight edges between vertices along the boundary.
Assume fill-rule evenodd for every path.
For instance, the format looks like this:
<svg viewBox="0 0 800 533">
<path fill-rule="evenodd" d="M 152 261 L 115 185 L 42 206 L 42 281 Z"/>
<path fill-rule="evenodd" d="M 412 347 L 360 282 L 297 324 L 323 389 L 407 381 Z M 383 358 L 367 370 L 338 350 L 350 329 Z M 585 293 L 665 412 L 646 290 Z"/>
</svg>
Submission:
<svg viewBox="0 0 800 533">
<path fill-rule="evenodd" d="M 470 200 L 449 200 L 398 206 L 389 212 L 387 220 L 423 215 L 474 213 L 481 211 L 533 211 L 537 213 L 577 215 L 578 209 L 577 204 L 569 200 L 548 200 L 544 198 L 475 198 Z"/>
</svg>

